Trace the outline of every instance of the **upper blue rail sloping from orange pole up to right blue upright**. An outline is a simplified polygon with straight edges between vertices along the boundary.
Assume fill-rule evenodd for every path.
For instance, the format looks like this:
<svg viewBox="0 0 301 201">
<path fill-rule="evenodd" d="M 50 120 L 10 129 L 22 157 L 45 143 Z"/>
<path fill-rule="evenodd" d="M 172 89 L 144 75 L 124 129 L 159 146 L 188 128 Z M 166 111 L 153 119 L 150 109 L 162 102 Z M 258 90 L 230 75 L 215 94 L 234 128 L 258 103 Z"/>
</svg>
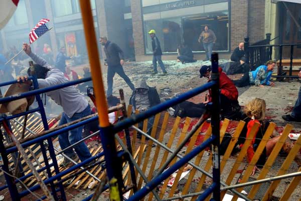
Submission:
<svg viewBox="0 0 301 201">
<path fill-rule="evenodd" d="M 183 101 L 208 90 L 209 88 L 214 86 L 216 83 L 217 83 L 216 81 L 210 81 L 202 86 L 199 86 L 190 91 L 187 91 L 187 92 L 185 92 L 179 96 L 176 96 L 170 100 L 167 100 L 164 103 L 154 106 L 153 108 L 150 108 L 149 110 L 147 110 L 145 112 L 139 113 L 138 115 L 134 115 L 129 118 L 126 118 L 125 120 L 122 120 L 113 126 L 113 133 L 118 133 L 121 130 L 130 127 L 131 125 L 141 122 L 146 118 L 152 117 L 158 113 L 161 113 L 162 111 L 167 110 L 168 108 L 170 108 L 172 106 L 182 103 Z"/>
</svg>

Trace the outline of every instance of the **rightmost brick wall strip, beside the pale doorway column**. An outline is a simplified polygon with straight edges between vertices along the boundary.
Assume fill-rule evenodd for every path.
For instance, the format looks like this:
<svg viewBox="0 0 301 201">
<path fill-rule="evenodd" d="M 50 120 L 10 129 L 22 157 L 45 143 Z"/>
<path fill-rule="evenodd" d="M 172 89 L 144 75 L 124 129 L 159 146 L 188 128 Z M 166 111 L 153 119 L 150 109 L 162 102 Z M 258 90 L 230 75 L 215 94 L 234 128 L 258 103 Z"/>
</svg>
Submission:
<svg viewBox="0 0 301 201">
<path fill-rule="evenodd" d="M 248 35 L 250 44 L 265 39 L 264 33 L 265 0 L 249 0 Z"/>
</svg>

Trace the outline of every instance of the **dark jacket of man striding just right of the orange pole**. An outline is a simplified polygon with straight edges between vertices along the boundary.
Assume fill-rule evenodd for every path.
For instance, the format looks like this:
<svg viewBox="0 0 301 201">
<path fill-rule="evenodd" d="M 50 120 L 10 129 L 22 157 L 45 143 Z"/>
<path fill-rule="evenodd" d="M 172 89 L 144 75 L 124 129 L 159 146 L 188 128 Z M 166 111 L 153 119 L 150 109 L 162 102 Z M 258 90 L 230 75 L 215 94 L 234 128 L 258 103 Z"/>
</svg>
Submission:
<svg viewBox="0 0 301 201">
<path fill-rule="evenodd" d="M 105 44 L 104 53 L 106 56 L 105 61 L 107 62 L 108 66 L 120 65 L 120 60 L 124 60 L 124 54 L 121 48 L 111 41 L 107 41 Z"/>
</svg>

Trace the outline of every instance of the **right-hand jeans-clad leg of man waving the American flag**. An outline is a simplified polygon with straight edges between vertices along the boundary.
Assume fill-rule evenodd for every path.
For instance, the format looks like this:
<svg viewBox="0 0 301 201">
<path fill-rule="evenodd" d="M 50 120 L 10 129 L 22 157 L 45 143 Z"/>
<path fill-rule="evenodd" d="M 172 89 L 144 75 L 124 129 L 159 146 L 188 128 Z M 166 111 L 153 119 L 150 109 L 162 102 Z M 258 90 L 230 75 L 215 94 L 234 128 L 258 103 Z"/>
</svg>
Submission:
<svg viewBox="0 0 301 201">
<path fill-rule="evenodd" d="M 86 117 L 89 114 L 91 114 L 91 109 L 90 106 L 88 105 L 87 108 L 81 113 L 75 113 L 72 118 L 69 118 L 67 116 L 66 119 L 67 122 L 70 123 L 80 118 Z M 69 132 L 68 139 L 70 144 L 74 144 L 82 139 L 82 130 L 83 130 L 83 126 L 75 128 Z M 91 157 L 91 153 L 84 142 L 81 142 L 76 146 L 74 146 L 74 149 L 81 161 L 84 161 Z"/>
</svg>

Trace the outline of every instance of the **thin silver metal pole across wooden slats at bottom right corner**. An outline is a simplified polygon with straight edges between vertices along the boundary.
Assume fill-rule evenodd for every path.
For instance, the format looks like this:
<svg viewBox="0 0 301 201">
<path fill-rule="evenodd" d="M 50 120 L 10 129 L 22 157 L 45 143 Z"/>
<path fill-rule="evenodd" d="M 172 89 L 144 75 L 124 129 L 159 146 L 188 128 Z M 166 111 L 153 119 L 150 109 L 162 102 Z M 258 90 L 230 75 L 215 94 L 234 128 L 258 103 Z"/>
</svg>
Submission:
<svg viewBox="0 0 301 201">
<path fill-rule="evenodd" d="M 301 176 L 301 172 L 293 172 L 293 173 L 289 173 L 289 174 L 283 174 L 283 175 L 280 175 L 280 176 L 275 176 L 275 177 L 270 177 L 270 178 L 255 180 L 255 181 L 249 181 L 249 182 L 240 183 L 240 184 L 236 184 L 236 185 L 229 185 L 229 186 L 222 187 L 221 191 L 230 190 L 230 189 L 233 189 L 233 188 L 244 187 L 244 186 L 249 186 L 249 185 L 255 185 L 255 184 L 258 184 L 258 183 L 264 183 L 264 182 L 269 182 L 269 181 L 274 181 L 274 180 L 280 180 L 280 179 L 295 177 L 295 176 Z"/>
</svg>

